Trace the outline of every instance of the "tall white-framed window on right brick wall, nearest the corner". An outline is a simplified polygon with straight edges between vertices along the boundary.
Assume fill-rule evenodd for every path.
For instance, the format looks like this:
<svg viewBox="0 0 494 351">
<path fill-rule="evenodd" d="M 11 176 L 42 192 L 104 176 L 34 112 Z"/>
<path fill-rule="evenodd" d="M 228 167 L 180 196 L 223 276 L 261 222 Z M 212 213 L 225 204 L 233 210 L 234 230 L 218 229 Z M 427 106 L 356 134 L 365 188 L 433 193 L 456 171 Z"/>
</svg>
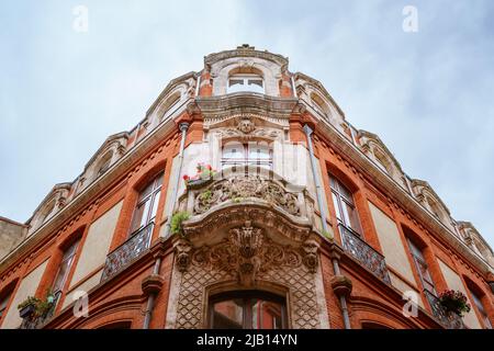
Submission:
<svg viewBox="0 0 494 351">
<path fill-rule="evenodd" d="M 338 225 L 360 235 L 360 222 L 351 192 L 335 177 L 329 176 L 333 204 Z"/>
</svg>

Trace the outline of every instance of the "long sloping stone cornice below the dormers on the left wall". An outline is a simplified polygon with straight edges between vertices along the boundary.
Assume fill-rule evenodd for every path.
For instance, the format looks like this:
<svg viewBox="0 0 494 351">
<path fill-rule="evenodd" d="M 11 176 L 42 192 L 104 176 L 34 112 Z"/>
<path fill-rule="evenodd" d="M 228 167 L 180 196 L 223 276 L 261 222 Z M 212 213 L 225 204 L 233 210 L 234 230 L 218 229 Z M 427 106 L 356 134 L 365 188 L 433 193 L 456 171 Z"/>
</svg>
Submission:
<svg viewBox="0 0 494 351">
<path fill-rule="evenodd" d="M 160 141 L 164 140 L 167 134 L 170 134 L 177 128 L 173 118 L 168 118 L 158 125 L 154 131 L 147 134 L 141 141 L 138 141 L 133 148 L 131 148 L 122 158 L 120 158 L 111 168 L 94 182 L 88 185 L 81 193 L 72 199 L 65 207 L 56 213 L 52 218 L 43 224 L 35 233 L 27 237 L 14 250 L 5 256 L 0 261 L 0 274 L 13 263 L 16 259 L 21 258 L 33 249 L 40 241 L 48 237 L 55 230 L 60 228 L 64 223 L 69 220 L 83 211 L 91 201 L 98 195 L 98 193 L 111 185 L 122 174 L 132 169 L 135 162 L 143 156 L 149 152 Z"/>
</svg>

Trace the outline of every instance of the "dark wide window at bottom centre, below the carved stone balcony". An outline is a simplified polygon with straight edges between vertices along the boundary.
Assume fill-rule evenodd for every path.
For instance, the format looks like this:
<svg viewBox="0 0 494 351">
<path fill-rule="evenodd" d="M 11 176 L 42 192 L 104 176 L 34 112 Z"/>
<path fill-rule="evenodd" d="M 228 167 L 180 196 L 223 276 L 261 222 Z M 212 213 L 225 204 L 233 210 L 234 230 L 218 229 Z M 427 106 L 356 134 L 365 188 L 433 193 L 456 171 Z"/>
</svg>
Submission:
<svg viewBox="0 0 494 351">
<path fill-rule="evenodd" d="M 239 291 L 210 298 L 210 328 L 287 328 L 287 304 L 281 296 L 260 291 Z"/>
</svg>

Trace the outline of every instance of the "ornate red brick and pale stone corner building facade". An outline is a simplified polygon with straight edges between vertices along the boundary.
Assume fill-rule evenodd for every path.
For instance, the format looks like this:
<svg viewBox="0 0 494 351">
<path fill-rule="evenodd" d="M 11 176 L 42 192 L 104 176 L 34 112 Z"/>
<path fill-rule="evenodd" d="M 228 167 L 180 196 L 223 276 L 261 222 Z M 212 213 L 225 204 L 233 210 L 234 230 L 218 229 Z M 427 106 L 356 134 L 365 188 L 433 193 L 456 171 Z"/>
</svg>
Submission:
<svg viewBox="0 0 494 351">
<path fill-rule="evenodd" d="M 206 56 L 25 224 L 0 218 L 0 327 L 491 328 L 482 236 L 288 64 Z"/>
</svg>

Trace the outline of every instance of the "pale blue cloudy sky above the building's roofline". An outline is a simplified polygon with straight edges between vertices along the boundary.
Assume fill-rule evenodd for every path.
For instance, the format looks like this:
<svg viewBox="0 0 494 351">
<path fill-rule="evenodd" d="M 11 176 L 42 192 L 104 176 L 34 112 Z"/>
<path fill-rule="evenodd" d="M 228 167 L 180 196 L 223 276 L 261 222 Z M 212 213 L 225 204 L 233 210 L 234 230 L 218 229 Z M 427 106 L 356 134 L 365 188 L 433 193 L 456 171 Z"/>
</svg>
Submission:
<svg viewBox="0 0 494 351">
<path fill-rule="evenodd" d="M 77 5 L 88 32 L 74 30 Z M 418 32 L 402 24 L 418 10 Z M 167 82 L 248 43 L 319 81 L 494 246 L 494 2 L 2 1 L 0 216 L 25 222 Z"/>
</svg>

